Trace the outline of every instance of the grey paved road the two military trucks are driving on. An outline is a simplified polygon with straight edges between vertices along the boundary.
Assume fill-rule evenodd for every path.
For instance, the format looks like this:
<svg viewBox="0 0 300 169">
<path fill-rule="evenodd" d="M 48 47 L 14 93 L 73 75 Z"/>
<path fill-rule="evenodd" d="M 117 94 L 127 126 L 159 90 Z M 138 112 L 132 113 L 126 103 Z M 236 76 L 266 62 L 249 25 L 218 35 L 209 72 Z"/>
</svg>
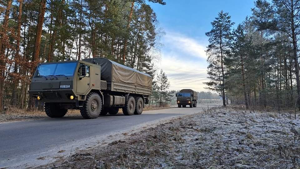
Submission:
<svg viewBox="0 0 300 169">
<path fill-rule="evenodd" d="M 49 156 L 61 155 L 59 150 L 68 150 L 66 153 L 70 153 L 72 148 L 97 144 L 99 138 L 105 135 L 130 130 L 137 125 L 166 117 L 202 112 L 213 106 L 151 110 L 133 116 L 107 115 L 91 120 L 78 115 L 0 123 L 0 168 L 45 164 L 55 160 Z M 37 159 L 39 157 L 45 158 Z"/>
</svg>

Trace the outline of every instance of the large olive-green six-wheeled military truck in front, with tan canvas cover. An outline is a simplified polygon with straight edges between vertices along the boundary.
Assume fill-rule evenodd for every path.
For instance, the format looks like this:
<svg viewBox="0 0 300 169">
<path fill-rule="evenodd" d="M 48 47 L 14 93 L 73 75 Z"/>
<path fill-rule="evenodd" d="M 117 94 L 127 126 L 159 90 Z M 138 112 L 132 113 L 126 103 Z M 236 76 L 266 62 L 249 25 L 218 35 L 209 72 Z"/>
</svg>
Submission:
<svg viewBox="0 0 300 169">
<path fill-rule="evenodd" d="M 44 102 L 49 117 L 80 109 L 82 117 L 142 114 L 152 91 L 152 77 L 106 58 L 40 63 L 32 77 L 30 97 Z"/>
</svg>

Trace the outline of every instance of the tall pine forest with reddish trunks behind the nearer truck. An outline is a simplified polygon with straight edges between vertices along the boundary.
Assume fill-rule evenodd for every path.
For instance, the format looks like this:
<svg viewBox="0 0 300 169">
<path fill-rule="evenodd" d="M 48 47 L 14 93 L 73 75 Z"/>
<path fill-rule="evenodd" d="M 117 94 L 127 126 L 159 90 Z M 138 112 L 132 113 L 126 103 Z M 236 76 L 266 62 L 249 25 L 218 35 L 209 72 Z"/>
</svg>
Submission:
<svg viewBox="0 0 300 169">
<path fill-rule="evenodd" d="M 0 1 L 0 110 L 30 105 L 39 62 L 106 57 L 154 77 L 163 31 L 149 4 L 163 0 Z"/>
</svg>

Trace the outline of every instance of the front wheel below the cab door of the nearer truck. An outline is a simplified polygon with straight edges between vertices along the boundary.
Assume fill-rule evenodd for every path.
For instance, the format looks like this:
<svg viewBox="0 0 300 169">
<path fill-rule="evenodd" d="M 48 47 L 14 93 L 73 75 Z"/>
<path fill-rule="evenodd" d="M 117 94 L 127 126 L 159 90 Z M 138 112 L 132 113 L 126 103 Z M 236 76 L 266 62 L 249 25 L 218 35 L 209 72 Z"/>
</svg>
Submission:
<svg viewBox="0 0 300 169">
<path fill-rule="evenodd" d="M 88 94 L 83 107 L 80 108 L 80 114 L 83 118 L 97 118 L 102 110 L 102 99 L 98 93 L 91 92 Z"/>
</svg>

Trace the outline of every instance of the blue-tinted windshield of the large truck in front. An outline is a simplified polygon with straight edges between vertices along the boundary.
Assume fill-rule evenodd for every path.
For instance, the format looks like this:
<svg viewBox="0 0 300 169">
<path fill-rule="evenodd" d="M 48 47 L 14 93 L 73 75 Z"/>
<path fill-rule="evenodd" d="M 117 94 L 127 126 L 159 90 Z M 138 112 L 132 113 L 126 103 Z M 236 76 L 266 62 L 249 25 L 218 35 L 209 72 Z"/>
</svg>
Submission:
<svg viewBox="0 0 300 169">
<path fill-rule="evenodd" d="M 37 68 L 39 76 L 73 76 L 77 62 L 42 64 Z"/>
</svg>

